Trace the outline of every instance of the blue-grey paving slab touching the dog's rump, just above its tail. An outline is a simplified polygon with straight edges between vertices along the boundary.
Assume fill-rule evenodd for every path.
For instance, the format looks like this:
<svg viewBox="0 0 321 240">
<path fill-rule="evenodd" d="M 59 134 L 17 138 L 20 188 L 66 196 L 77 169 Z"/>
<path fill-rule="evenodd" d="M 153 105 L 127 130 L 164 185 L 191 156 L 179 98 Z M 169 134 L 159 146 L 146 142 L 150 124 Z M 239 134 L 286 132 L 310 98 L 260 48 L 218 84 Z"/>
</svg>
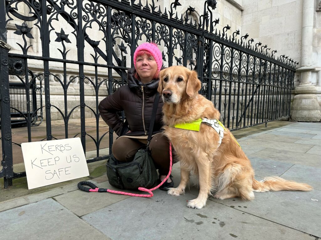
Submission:
<svg viewBox="0 0 321 240">
<path fill-rule="evenodd" d="M 283 163 L 280 161 L 274 161 L 254 156 L 250 156 L 249 159 L 251 161 L 251 165 L 254 169 L 255 175 L 263 178 L 269 176 L 280 176 L 291 166 L 293 166 L 292 163 Z"/>
</svg>

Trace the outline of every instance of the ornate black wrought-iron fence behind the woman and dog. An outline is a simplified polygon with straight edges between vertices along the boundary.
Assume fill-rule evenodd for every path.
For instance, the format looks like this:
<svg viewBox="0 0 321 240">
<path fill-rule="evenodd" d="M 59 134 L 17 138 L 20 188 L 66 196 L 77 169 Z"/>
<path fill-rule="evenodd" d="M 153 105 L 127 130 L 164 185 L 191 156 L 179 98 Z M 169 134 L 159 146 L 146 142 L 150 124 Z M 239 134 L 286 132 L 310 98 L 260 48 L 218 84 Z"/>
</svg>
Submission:
<svg viewBox="0 0 321 240">
<path fill-rule="evenodd" d="M 198 72 L 203 84 L 201 93 L 213 101 L 221 112 L 221 120 L 231 130 L 289 116 L 297 62 L 284 55 L 275 59 L 276 51 L 270 51 L 261 43 L 253 43 L 247 34 L 239 36 L 239 30 L 229 33 L 228 25 L 217 30 L 215 26 L 219 19 L 213 18 L 215 0 L 202 1 L 204 12 L 199 13 L 200 17 L 196 17 L 198 15 L 192 7 L 179 16 L 176 12 L 181 6 L 179 0 L 173 0 L 168 10 L 163 10 L 157 0 L 143 2 L 0 0 L 3 153 L 0 177 L 4 178 L 5 188 L 12 184 L 13 178 L 25 175 L 13 171 L 9 75 L 15 76 L 25 89 L 39 78 L 44 82 L 46 134 L 43 140 L 58 138 L 51 127 L 53 110 L 64 121 L 65 138 L 70 137 L 72 114 L 76 110 L 80 112 L 81 129 L 75 136 L 81 136 L 85 152 L 86 139 L 94 142 L 97 152 L 97 156 L 87 162 L 108 158 L 108 155 L 100 156 L 101 142 L 109 133 L 111 146 L 113 134 L 112 130 L 99 131 L 100 96 L 107 91 L 111 94 L 118 85 L 126 84 L 126 70 L 133 66 L 131 56 L 136 46 L 144 41 L 159 44 L 165 67 L 184 65 Z M 11 32 L 14 39 L 7 39 L 9 25 L 10 29 L 14 28 Z M 10 50 L 9 42 L 14 50 Z M 41 71 L 30 76 L 28 69 L 34 65 L 40 65 Z M 9 72 L 9 69 L 13 71 Z M 67 77 L 74 70 L 76 74 Z M 61 75 L 55 71 L 60 71 Z M 52 79 L 61 89 L 62 107 L 50 99 Z M 79 89 L 77 104 L 72 106 L 68 105 L 70 86 Z M 94 93 L 92 105 L 85 100 L 88 86 Z M 33 141 L 30 132 L 33 114 L 28 92 L 24 117 L 27 119 L 28 140 Z M 97 129 L 94 134 L 86 132 L 85 109 L 94 116 Z"/>
</svg>

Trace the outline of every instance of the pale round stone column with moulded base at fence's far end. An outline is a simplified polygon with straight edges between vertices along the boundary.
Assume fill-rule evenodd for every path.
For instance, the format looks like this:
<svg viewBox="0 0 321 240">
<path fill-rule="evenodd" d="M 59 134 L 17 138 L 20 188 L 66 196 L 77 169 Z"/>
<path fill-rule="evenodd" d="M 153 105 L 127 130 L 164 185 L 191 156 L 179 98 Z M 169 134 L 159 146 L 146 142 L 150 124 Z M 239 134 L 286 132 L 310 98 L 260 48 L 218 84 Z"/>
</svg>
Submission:
<svg viewBox="0 0 321 240">
<path fill-rule="evenodd" d="M 319 122 L 321 119 L 317 89 L 311 84 L 311 71 L 315 70 L 312 66 L 314 2 L 303 0 L 301 67 L 297 69 L 301 76 L 299 86 L 294 89 L 296 95 L 291 107 L 291 118 L 300 122 Z"/>
</svg>

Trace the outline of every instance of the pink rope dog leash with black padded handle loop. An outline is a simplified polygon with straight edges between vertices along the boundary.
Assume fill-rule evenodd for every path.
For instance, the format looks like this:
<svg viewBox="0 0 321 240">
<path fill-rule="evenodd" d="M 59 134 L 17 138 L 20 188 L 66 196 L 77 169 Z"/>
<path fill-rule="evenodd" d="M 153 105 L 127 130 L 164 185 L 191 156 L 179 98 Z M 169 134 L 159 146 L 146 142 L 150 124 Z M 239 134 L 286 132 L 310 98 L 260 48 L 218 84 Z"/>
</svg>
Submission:
<svg viewBox="0 0 321 240">
<path fill-rule="evenodd" d="M 166 180 L 169 178 L 169 175 L 171 172 L 172 172 L 172 144 L 171 144 L 171 142 L 169 142 L 169 172 L 168 172 L 166 178 L 164 180 L 162 180 L 162 182 L 154 188 L 151 188 L 151 189 L 142 188 L 142 187 L 138 188 L 138 190 L 143 191 L 143 192 L 148 192 L 149 194 L 135 194 L 135 193 L 127 193 L 127 192 L 122 192 L 122 191 L 110 190 L 107 188 L 97 188 L 97 186 L 95 184 L 93 184 L 92 182 L 88 182 L 88 181 L 79 182 L 77 187 L 80 190 L 85 191 L 85 192 L 100 192 L 100 193 L 101 192 L 108 192 L 108 193 L 122 194 L 122 195 L 134 196 L 134 197 L 152 197 L 152 196 L 154 196 L 152 191 L 154 191 L 155 189 L 157 189 L 161 185 L 163 185 L 163 183 L 166 182 Z M 89 186 L 91 188 L 84 187 L 84 185 Z"/>
</svg>

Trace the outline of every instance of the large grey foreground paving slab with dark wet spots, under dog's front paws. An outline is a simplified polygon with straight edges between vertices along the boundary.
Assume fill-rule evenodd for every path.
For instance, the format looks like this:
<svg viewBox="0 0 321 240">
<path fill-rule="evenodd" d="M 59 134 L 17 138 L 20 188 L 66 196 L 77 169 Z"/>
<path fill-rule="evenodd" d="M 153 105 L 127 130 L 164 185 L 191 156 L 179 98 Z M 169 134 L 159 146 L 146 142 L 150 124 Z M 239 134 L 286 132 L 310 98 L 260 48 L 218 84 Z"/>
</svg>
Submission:
<svg viewBox="0 0 321 240">
<path fill-rule="evenodd" d="M 186 207 L 187 193 L 173 197 L 155 191 L 151 199 L 130 197 L 83 216 L 113 240 L 127 239 L 280 239 L 315 237 L 208 200 L 203 209 Z"/>
</svg>

